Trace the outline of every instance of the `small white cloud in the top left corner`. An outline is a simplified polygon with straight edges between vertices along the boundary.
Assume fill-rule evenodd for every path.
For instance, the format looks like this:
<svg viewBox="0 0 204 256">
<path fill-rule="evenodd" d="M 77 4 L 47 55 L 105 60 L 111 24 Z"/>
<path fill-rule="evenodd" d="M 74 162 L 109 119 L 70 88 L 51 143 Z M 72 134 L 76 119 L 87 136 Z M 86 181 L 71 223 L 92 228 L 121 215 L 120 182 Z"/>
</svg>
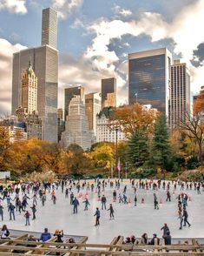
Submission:
<svg viewBox="0 0 204 256">
<path fill-rule="evenodd" d="M 9 10 L 16 14 L 25 14 L 27 9 L 26 0 L 0 0 L 0 10 Z"/>
</svg>

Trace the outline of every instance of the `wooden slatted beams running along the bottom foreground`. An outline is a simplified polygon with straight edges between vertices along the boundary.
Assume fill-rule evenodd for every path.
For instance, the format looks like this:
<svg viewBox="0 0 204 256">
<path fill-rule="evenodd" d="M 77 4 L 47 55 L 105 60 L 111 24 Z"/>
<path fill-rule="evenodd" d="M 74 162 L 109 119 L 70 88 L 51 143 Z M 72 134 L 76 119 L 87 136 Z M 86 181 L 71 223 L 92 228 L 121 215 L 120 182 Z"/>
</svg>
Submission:
<svg viewBox="0 0 204 256">
<path fill-rule="evenodd" d="M 68 236 L 68 235 L 67 235 Z M 70 236 L 68 236 L 70 237 Z M 196 239 L 191 239 L 192 245 L 171 245 L 165 246 L 164 240 L 161 239 L 161 245 L 157 245 L 155 239 L 154 246 L 148 245 L 124 245 L 123 237 L 114 238 L 109 245 L 86 244 L 88 237 L 82 237 L 79 242 L 73 243 L 56 243 L 56 237 L 52 237 L 46 242 L 28 241 L 29 234 L 24 233 L 18 237 L 10 239 L 0 239 L 0 255 L 58 255 L 63 256 L 83 256 L 83 255 L 204 255 L 204 244 L 199 244 Z M 70 248 L 72 246 L 72 248 Z"/>
</svg>

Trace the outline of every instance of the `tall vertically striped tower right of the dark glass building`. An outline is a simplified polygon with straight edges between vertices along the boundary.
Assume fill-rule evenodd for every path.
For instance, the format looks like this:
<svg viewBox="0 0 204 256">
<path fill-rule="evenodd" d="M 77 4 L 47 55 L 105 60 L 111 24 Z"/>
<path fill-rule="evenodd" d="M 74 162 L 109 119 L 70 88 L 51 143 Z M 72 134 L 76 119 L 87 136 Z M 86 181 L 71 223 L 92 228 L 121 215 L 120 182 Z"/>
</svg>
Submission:
<svg viewBox="0 0 204 256">
<path fill-rule="evenodd" d="M 171 66 L 169 111 L 171 128 L 178 126 L 186 113 L 190 113 L 190 73 L 187 64 L 181 64 L 180 60 L 174 60 Z"/>
</svg>

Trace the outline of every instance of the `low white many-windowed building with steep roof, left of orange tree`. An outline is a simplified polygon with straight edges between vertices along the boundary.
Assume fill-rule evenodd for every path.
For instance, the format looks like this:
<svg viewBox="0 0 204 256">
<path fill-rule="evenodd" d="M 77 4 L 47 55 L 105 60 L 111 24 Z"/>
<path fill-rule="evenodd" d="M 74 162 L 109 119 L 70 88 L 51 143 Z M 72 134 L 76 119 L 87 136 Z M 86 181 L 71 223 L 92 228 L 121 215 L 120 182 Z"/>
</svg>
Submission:
<svg viewBox="0 0 204 256">
<path fill-rule="evenodd" d="M 111 108 L 105 107 L 96 118 L 96 142 L 112 142 L 125 140 L 122 129 L 114 129 L 114 121 L 109 121 Z"/>
</svg>

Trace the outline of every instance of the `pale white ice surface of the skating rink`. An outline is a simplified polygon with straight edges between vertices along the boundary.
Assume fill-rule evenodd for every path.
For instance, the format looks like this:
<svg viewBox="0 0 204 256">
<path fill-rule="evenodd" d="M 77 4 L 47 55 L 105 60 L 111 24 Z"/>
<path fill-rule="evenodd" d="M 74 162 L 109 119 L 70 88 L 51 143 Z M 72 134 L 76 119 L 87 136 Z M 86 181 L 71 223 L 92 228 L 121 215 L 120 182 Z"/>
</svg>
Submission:
<svg viewBox="0 0 204 256">
<path fill-rule="evenodd" d="M 89 181 L 91 183 L 91 181 Z M 115 210 L 115 219 L 109 219 L 109 212 L 101 210 L 101 202 L 98 201 L 97 194 L 89 192 L 89 211 L 84 212 L 84 204 L 82 203 L 86 190 L 81 190 L 83 197 L 79 199 L 78 213 L 73 214 L 73 206 L 70 205 L 70 199 L 65 199 L 65 194 L 62 193 L 61 187 L 56 191 L 56 205 L 53 205 L 51 196 L 47 193 L 47 201 L 45 206 L 42 206 L 38 199 L 36 206 L 36 220 L 30 218 L 30 226 L 25 226 L 25 218 L 23 213 L 16 212 L 16 221 L 9 220 L 9 213 L 6 209 L 6 202 L 3 201 L 4 206 L 4 221 L 8 228 L 18 230 L 28 230 L 42 232 L 44 227 L 48 227 L 50 232 L 55 232 L 56 229 L 63 229 L 64 233 L 72 235 L 83 235 L 89 237 L 89 242 L 95 243 L 109 243 L 115 236 L 123 235 L 124 237 L 135 235 L 141 237 L 143 232 L 148 233 L 148 237 L 152 237 L 153 233 L 157 233 L 161 237 L 161 226 L 167 223 L 173 238 L 204 238 L 204 192 L 198 195 L 194 189 L 192 191 L 184 190 L 190 196 L 192 201 L 188 202 L 188 221 L 191 227 L 184 226 L 179 230 L 180 220 L 178 219 L 177 199 L 176 196 L 181 192 L 180 187 L 177 186 L 177 191 L 173 195 L 173 187 L 171 187 L 172 201 L 166 202 L 166 190 L 162 188 L 156 192 L 157 198 L 162 204 L 160 209 L 155 210 L 153 204 L 152 189 L 143 190 L 137 189 L 137 206 L 134 205 L 134 190 L 131 187 L 129 180 L 123 180 L 121 189 L 117 190 L 117 198 L 119 192 L 123 192 L 124 185 L 128 186 L 127 196 L 131 203 L 123 205 L 113 203 L 113 190 L 110 189 L 109 184 L 105 188 L 104 195 L 107 197 L 107 208 L 109 203 L 113 203 Z M 77 196 L 76 189 L 74 194 Z M 103 194 L 103 192 L 102 192 Z M 28 196 L 31 197 L 31 194 Z M 144 204 L 141 204 L 141 198 L 144 198 Z M 32 199 L 29 200 L 29 210 L 32 205 Z M 95 207 L 99 207 L 101 211 L 100 226 L 95 226 Z"/>
</svg>

